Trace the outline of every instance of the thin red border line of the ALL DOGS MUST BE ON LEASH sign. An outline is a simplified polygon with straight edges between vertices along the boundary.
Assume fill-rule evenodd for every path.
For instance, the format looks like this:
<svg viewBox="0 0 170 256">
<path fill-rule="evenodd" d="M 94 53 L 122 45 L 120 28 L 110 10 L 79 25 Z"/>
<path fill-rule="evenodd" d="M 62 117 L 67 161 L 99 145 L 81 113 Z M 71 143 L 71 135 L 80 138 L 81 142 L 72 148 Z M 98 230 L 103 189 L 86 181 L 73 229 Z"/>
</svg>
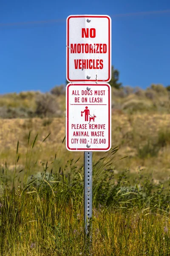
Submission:
<svg viewBox="0 0 170 256">
<path fill-rule="evenodd" d="M 85 86 L 86 84 L 68 84 L 67 86 L 67 120 L 66 120 L 66 146 L 68 150 L 71 151 L 108 151 L 111 148 L 111 87 L 109 84 L 97 84 L 104 85 L 108 87 L 108 147 L 107 148 L 70 148 L 69 147 L 69 87 L 72 85 L 76 86 Z M 91 86 L 96 86 L 95 84 L 88 84 Z"/>
</svg>

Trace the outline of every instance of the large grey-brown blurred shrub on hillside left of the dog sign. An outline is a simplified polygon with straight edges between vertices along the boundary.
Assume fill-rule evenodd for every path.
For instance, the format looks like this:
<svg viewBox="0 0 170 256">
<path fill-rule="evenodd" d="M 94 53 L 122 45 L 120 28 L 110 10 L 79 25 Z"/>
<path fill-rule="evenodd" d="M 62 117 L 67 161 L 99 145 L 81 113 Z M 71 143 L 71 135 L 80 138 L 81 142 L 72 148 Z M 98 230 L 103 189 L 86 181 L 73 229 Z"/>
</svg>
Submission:
<svg viewBox="0 0 170 256">
<path fill-rule="evenodd" d="M 36 115 L 40 117 L 53 116 L 57 110 L 58 103 L 55 96 L 49 93 L 41 93 L 36 96 Z"/>
</svg>

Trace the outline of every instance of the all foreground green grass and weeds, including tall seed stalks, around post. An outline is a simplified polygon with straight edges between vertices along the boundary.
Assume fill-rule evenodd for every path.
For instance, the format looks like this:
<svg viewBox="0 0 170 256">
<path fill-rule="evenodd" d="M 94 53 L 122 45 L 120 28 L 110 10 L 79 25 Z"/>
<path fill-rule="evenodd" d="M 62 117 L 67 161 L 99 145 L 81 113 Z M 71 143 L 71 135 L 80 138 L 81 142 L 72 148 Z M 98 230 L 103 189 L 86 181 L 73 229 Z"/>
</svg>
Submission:
<svg viewBox="0 0 170 256">
<path fill-rule="evenodd" d="M 89 251 L 80 159 L 65 160 L 61 167 L 55 155 L 52 162 L 41 163 L 38 174 L 31 175 L 40 157 L 37 154 L 37 161 L 32 161 L 37 138 L 28 135 L 22 169 L 18 142 L 13 176 L 9 179 L 8 164 L 1 173 L 0 255 L 170 255 L 170 182 L 164 189 L 151 175 L 143 176 L 140 168 L 133 180 L 128 169 L 115 175 L 112 166 L 117 147 L 94 160 Z"/>
</svg>

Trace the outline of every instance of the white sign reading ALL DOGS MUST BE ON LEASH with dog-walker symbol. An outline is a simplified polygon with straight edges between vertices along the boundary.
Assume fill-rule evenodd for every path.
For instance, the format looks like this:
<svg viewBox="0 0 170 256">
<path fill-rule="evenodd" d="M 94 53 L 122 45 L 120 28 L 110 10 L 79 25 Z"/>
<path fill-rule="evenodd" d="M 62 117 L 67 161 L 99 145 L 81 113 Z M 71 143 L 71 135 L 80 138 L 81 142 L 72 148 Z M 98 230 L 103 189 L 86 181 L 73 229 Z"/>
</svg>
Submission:
<svg viewBox="0 0 170 256">
<path fill-rule="evenodd" d="M 67 84 L 66 148 L 69 151 L 111 148 L 110 84 Z"/>
</svg>

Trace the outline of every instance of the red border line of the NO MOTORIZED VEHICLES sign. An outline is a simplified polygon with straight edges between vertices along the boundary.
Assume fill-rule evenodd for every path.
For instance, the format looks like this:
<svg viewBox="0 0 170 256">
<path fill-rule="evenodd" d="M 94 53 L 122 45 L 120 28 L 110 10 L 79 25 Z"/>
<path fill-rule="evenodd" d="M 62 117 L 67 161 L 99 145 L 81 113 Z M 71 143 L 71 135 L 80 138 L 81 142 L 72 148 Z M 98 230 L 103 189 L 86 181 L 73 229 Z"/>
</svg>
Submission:
<svg viewBox="0 0 170 256">
<path fill-rule="evenodd" d="M 82 18 L 82 17 L 96 17 L 96 18 L 107 18 L 108 19 L 108 79 L 103 81 L 103 80 L 97 80 L 99 82 L 108 82 L 111 79 L 111 23 L 110 23 L 110 18 L 108 16 L 97 16 L 97 15 L 82 15 L 82 16 L 69 16 L 67 20 L 67 45 L 69 46 L 69 20 L 71 18 Z M 96 80 L 89 80 L 89 79 L 82 79 L 82 80 L 71 80 L 69 79 L 69 48 L 67 47 L 67 79 L 70 82 L 82 82 L 82 81 L 88 81 L 88 82 L 95 82 Z"/>
</svg>

